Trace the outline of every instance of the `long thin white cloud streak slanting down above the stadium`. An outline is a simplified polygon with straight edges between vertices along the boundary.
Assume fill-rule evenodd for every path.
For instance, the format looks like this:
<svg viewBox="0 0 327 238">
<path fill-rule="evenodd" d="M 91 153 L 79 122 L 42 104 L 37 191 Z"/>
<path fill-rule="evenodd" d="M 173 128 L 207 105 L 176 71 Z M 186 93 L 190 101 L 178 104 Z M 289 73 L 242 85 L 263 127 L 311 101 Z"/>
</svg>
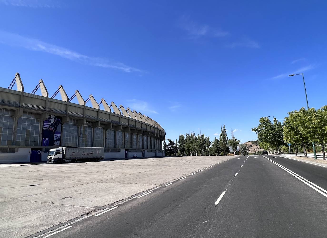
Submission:
<svg viewBox="0 0 327 238">
<path fill-rule="evenodd" d="M 83 55 L 77 53 L 76 51 L 69 50 L 57 45 L 49 44 L 37 39 L 27 38 L 18 34 L 1 31 L 1 30 L 0 30 L 0 43 L 10 46 L 23 47 L 25 49 L 32 50 L 32 51 L 41 51 L 48 54 L 57 55 L 62 58 L 70 59 L 82 64 L 103 67 L 103 68 L 118 69 L 128 73 L 143 72 L 140 69 L 130 67 L 121 62 L 112 62 L 111 60 L 105 58 Z"/>
</svg>

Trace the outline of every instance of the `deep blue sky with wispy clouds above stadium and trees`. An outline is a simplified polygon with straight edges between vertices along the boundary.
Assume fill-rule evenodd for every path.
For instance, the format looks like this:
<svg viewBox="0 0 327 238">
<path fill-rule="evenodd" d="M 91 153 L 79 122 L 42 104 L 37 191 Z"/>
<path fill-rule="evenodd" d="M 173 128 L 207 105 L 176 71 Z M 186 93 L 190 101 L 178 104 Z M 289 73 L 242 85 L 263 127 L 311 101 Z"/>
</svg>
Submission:
<svg viewBox="0 0 327 238">
<path fill-rule="evenodd" d="M 256 139 L 261 116 L 326 105 L 323 1 L 0 0 L 0 86 L 42 78 L 152 117 L 166 138 Z M 39 93 L 39 92 L 38 92 Z M 39 93 L 40 94 L 40 93 Z M 56 98 L 60 99 L 60 95 Z"/>
</svg>

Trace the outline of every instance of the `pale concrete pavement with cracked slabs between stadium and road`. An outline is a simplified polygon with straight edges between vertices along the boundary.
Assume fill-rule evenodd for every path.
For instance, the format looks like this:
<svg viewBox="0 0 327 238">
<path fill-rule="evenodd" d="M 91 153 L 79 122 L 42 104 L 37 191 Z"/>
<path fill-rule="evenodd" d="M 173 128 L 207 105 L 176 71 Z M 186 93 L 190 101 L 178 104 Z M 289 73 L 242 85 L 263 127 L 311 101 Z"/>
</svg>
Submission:
<svg viewBox="0 0 327 238">
<path fill-rule="evenodd" d="M 235 156 L 166 157 L 0 168 L 0 237 L 59 226 Z"/>
</svg>

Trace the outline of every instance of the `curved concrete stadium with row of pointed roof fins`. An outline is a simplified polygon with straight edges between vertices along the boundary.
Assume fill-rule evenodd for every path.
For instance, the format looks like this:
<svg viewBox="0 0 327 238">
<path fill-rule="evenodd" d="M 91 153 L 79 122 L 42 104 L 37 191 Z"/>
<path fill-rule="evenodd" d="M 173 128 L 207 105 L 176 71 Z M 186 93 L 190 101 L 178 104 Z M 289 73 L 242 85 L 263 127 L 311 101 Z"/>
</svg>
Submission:
<svg viewBox="0 0 327 238">
<path fill-rule="evenodd" d="M 19 73 L 8 89 L 0 87 L 0 139 L 0 163 L 47 161 L 59 146 L 104 147 L 105 159 L 165 155 L 165 132 L 155 120 L 92 94 L 84 100 L 78 90 L 69 98 L 61 85 L 49 97 L 42 79 L 26 93 Z"/>
</svg>

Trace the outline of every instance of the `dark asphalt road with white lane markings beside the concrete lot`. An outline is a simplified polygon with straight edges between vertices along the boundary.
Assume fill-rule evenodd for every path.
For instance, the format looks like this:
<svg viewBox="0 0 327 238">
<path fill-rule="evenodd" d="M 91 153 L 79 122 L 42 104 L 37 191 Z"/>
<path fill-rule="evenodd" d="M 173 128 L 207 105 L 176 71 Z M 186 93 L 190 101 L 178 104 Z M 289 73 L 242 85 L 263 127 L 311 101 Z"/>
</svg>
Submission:
<svg viewBox="0 0 327 238">
<path fill-rule="evenodd" d="M 48 235 L 327 237 L 327 168 L 265 157 L 225 161 Z"/>
</svg>

